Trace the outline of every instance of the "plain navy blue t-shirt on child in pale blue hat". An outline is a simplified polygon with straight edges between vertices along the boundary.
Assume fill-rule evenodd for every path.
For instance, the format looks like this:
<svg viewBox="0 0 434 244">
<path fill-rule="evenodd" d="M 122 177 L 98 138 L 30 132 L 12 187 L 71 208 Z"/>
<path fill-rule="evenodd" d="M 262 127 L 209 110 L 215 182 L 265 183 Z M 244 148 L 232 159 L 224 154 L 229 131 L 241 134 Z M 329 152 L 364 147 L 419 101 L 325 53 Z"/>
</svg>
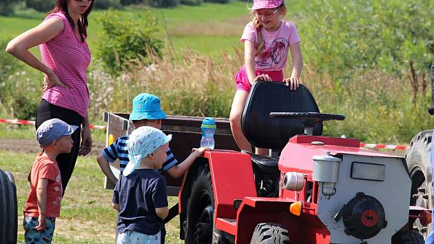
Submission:
<svg viewBox="0 0 434 244">
<path fill-rule="evenodd" d="M 167 207 L 166 179 L 154 170 L 134 170 L 121 176 L 114 187 L 112 202 L 119 204 L 118 233 L 132 230 L 143 234 L 157 234 L 163 219 L 155 209 Z"/>
</svg>

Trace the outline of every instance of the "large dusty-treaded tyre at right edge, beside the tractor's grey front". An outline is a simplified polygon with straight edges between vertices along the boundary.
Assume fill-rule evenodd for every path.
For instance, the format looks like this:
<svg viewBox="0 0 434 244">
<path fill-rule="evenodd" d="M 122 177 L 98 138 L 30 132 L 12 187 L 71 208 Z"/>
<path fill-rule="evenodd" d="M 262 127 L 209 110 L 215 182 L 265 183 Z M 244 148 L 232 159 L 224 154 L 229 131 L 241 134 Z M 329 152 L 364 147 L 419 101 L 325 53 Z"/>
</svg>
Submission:
<svg viewBox="0 0 434 244">
<path fill-rule="evenodd" d="M 419 132 L 411 140 L 411 148 L 406 153 L 407 166 L 411 176 L 410 205 L 433 208 L 432 172 L 430 164 L 431 134 L 433 130 Z M 413 223 L 413 230 L 417 230 L 422 236 L 431 232 L 431 224 L 424 227 L 420 224 L 419 218 Z"/>
</svg>

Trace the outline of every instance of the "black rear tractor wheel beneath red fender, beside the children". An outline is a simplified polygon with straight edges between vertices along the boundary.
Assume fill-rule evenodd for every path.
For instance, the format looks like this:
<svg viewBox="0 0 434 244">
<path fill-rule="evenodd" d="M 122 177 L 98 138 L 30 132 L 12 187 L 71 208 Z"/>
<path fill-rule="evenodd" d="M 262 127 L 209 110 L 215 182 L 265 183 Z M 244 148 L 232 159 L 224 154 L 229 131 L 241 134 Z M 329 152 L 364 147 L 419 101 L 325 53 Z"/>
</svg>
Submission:
<svg viewBox="0 0 434 244">
<path fill-rule="evenodd" d="M 233 243 L 229 236 L 214 228 L 214 192 L 208 164 L 200 165 L 192 181 L 192 194 L 187 200 L 186 230 L 185 243 L 188 244 Z"/>
</svg>

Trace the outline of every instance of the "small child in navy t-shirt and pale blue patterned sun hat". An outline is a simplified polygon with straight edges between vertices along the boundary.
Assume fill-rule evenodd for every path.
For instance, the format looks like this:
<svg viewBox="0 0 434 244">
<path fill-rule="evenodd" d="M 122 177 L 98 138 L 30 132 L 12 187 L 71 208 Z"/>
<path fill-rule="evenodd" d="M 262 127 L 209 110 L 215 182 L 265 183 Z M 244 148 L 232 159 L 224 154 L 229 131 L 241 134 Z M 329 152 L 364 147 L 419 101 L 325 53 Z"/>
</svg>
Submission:
<svg viewBox="0 0 434 244">
<path fill-rule="evenodd" d="M 118 244 L 161 243 L 163 219 L 169 214 L 163 167 L 172 135 L 142 126 L 128 140 L 128 162 L 116 183 L 112 205 L 119 212 Z"/>
</svg>

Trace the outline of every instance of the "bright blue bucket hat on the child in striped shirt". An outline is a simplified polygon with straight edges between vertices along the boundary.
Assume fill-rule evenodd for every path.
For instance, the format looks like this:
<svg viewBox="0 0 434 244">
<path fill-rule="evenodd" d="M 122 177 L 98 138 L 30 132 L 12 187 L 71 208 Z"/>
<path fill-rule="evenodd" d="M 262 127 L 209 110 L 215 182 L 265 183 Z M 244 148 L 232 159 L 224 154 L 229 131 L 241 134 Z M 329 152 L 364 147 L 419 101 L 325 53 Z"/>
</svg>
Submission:
<svg viewBox="0 0 434 244">
<path fill-rule="evenodd" d="M 141 93 L 133 99 L 133 110 L 130 121 L 141 119 L 166 119 L 166 114 L 161 110 L 161 100 L 152 94 Z"/>
</svg>

